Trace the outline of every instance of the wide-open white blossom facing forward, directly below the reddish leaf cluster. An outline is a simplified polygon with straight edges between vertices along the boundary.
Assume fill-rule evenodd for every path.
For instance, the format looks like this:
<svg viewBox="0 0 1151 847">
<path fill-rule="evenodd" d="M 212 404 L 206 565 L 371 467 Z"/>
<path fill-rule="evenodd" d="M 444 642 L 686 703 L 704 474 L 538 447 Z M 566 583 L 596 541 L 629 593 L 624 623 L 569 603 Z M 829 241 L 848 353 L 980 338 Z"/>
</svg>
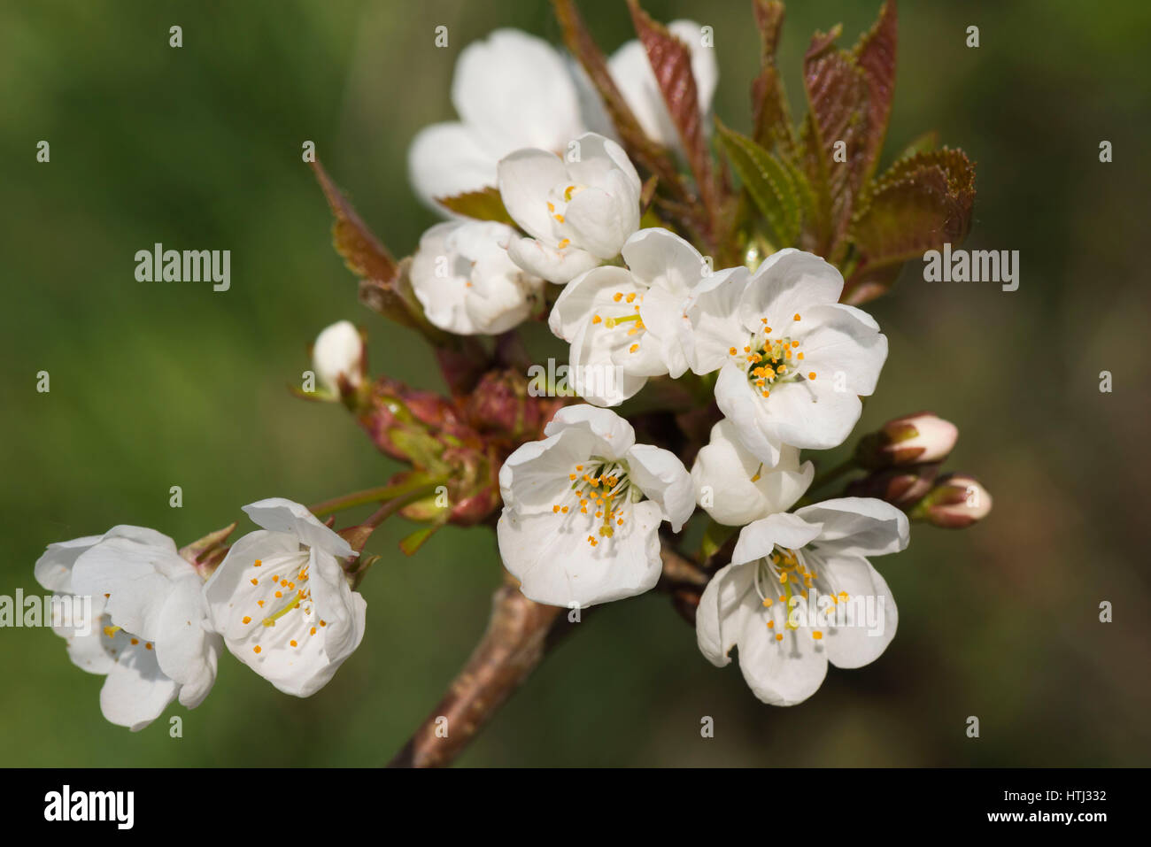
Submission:
<svg viewBox="0 0 1151 847">
<path fill-rule="evenodd" d="M 844 280 L 823 259 L 794 249 L 749 277 L 712 277 L 684 308 L 692 369 L 719 371 L 715 396 L 744 445 L 768 465 L 783 444 L 841 444 L 875 391 L 887 338 L 875 320 L 840 304 Z"/>
</svg>

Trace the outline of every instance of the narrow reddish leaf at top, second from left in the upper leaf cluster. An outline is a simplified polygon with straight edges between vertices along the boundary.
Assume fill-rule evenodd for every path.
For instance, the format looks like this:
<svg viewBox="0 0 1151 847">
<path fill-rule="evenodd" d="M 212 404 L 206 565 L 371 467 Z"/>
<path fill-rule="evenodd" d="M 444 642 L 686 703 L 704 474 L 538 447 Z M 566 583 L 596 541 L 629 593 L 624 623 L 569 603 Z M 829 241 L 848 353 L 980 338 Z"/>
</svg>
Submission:
<svg viewBox="0 0 1151 847">
<path fill-rule="evenodd" d="M 708 232 L 714 234 L 715 223 L 722 214 L 723 198 L 712 174 L 711 152 L 703 133 L 700 96 L 692 74 L 692 51 L 669 32 L 666 26 L 643 12 L 638 0 L 627 0 L 627 7 L 695 177 L 708 213 Z"/>
</svg>

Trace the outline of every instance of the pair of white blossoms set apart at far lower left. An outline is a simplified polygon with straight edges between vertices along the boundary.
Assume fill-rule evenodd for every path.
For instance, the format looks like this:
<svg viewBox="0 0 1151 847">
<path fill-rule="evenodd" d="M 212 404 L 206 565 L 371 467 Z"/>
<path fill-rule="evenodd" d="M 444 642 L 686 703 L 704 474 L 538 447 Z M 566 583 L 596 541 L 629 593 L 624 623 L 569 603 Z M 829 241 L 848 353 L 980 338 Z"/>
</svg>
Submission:
<svg viewBox="0 0 1151 847">
<path fill-rule="evenodd" d="M 205 581 L 167 535 L 115 526 L 49 544 L 36 579 L 55 595 L 92 597 L 92 618 L 58 621 L 73 663 L 107 677 L 100 709 L 142 730 L 178 699 L 212 690 L 221 644 L 285 694 L 319 690 L 364 638 L 365 602 L 342 560 L 348 542 L 298 503 L 244 506 L 244 535 Z"/>
</svg>

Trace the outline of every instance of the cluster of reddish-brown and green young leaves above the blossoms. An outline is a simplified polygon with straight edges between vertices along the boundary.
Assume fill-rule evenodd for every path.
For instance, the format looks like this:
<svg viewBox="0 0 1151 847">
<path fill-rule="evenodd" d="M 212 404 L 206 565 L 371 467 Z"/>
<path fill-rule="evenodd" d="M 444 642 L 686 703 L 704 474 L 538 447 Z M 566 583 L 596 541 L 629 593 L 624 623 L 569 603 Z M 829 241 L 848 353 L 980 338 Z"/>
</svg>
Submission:
<svg viewBox="0 0 1151 847">
<path fill-rule="evenodd" d="M 962 151 L 937 148 L 935 133 L 928 133 L 876 176 L 894 92 L 894 0 L 851 51 L 837 46 L 838 25 L 815 33 L 803 58 L 807 113 L 798 128 L 776 64 L 783 3 L 754 0 L 762 55 L 752 84 L 752 132 L 718 119 L 715 132 L 740 180 L 739 194 L 726 167 L 712 160 L 687 45 L 628 0 L 691 181 L 666 148 L 643 135 L 572 0 L 554 1 L 567 48 L 603 98 L 622 144 L 658 181 L 654 212 L 717 264 L 742 261 L 749 249 L 762 257 L 800 247 L 837 265 L 847 280 L 845 300 L 863 303 L 886 291 L 908 259 L 966 237 L 975 168 Z"/>
</svg>

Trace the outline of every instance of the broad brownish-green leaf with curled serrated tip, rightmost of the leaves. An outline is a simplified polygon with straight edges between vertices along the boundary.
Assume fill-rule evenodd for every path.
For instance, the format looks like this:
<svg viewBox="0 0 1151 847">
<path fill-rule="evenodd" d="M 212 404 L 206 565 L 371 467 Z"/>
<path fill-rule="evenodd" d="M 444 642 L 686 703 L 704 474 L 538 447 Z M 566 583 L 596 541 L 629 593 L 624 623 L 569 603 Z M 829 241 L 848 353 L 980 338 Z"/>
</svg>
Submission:
<svg viewBox="0 0 1151 847">
<path fill-rule="evenodd" d="M 944 148 L 897 162 L 852 227 L 860 260 L 843 300 L 874 299 L 891 287 L 905 261 L 962 243 L 974 203 L 975 167 L 962 151 Z"/>
</svg>

